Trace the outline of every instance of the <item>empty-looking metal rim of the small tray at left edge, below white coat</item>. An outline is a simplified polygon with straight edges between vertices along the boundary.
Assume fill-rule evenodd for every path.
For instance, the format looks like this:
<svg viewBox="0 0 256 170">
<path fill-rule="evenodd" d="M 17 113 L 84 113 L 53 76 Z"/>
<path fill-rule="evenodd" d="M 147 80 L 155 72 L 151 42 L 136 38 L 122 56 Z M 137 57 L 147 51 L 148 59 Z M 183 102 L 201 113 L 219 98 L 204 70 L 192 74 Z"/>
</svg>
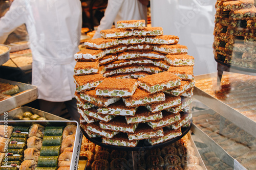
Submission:
<svg viewBox="0 0 256 170">
<path fill-rule="evenodd" d="M 5 79 L 0 79 L 0 82 L 17 85 L 20 90 L 19 93 L 12 95 L 11 98 L 8 98 L 0 102 L 0 113 L 9 111 L 16 107 L 30 103 L 36 100 L 38 97 L 36 86 L 25 84 L 25 83 L 19 83 L 15 81 L 10 81 L 10 80 L 5 80 Z"/>
</svg>

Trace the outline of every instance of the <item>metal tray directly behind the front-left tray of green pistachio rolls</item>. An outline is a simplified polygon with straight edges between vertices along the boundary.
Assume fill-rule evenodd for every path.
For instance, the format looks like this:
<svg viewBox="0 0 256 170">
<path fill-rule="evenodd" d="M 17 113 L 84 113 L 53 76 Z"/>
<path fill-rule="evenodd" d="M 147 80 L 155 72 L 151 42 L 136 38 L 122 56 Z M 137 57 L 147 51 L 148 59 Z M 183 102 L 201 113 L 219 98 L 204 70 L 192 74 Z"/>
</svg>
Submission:
<svg viewBox="0 0 256 170">
<path fill-rule="evenodd" d="M 56 116 L 54 114 L 48 113 L 48 112 L 44 112 L 41 110 L 37 110 L 31 107 L 17 107 L 15 109 L 12 109 L 10 111 L 8 111 L 8 120 L 13 120 L 14 116 L 20 115 L 22 116 L 24 112 L 29 111 L 33 114 L 37 114 L 40 117 L 45 117 L 47 120 L 61 120 L 61 121 L 67 121 L 68 119 Z M 7 114 L 5 113 L 5 114 Z M 4 113 L 0 114 L 0 120 L 4 120 Z M 15 120 L 15 121 L 20 121 L 20 120 Z"/>
</svg>

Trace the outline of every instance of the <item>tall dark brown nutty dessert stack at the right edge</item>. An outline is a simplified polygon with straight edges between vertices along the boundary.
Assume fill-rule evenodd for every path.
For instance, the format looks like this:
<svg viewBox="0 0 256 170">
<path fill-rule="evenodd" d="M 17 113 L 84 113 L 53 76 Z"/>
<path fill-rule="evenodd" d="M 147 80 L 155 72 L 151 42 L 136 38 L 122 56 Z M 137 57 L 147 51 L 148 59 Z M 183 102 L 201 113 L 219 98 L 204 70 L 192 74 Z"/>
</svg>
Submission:
<svg viewBox="0 0 256 170">
<path fill-rule="evenodd" d="M 217 1 L 213 45 L 216 59 L 256 68 L 255 14 L 253 0 Z"/>
</svg>

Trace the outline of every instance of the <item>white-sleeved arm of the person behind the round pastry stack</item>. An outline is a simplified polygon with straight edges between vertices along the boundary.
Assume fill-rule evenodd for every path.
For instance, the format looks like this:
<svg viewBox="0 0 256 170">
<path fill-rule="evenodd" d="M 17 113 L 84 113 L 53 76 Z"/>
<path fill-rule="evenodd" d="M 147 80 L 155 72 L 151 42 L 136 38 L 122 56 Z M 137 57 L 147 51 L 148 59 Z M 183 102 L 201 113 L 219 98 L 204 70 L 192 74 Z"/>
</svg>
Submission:
<svg viewBox="0 0 256 170">
<path fill-rule="evenodd" d="M 127 1 L 127 0 L 126 0 Z M 97 28 L 96 33 L 93 36 L 94 38 L 100 38 L 100 31 L 111 29 L 113 22 L 117 16 L 119 9 L 121 8 L 123 0 L 109 0 L 108 6 L 106 6 L 106 10 L 103 18 L 100 20 L 100 25 Z"/>
</svg>

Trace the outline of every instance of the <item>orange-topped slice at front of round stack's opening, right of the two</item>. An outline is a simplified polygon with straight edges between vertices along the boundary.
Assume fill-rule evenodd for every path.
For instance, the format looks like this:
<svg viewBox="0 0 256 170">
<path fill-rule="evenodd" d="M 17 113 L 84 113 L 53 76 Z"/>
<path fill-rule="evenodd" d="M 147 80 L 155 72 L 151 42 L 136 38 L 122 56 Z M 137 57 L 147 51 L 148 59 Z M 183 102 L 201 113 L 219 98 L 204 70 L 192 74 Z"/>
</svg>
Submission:
<svg viewBox="0 0 256 170">
<path fill-rule="evenodd" d="M 172 89 L 180 85 L 181 79 L 167 71 L 138 79 L 138 85 L 150 93 Z"/>
</svg>

